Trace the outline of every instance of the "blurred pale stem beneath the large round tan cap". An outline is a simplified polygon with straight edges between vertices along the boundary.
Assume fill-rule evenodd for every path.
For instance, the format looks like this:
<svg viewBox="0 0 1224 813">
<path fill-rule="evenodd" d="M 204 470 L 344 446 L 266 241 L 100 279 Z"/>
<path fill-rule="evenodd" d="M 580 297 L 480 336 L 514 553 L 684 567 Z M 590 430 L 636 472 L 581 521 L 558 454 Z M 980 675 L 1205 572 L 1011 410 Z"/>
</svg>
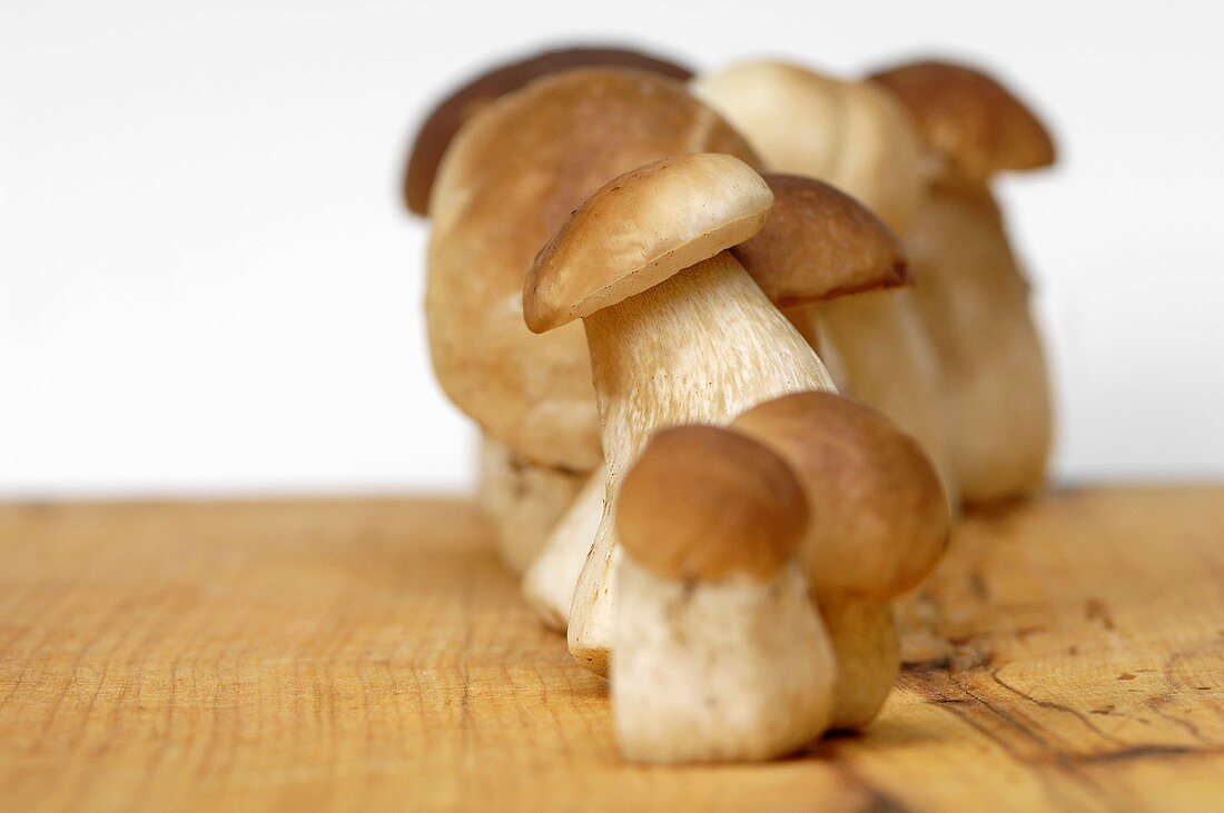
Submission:
<svg viewBox="0 0 1224 813">
<path fill-rule="evenodd" d="M 588 472 L 534 463 L 492 435 L 482 436 L 476 499 L 512 571 L 523 573 L 540 555 L 586 479 Z"/>
</svg>

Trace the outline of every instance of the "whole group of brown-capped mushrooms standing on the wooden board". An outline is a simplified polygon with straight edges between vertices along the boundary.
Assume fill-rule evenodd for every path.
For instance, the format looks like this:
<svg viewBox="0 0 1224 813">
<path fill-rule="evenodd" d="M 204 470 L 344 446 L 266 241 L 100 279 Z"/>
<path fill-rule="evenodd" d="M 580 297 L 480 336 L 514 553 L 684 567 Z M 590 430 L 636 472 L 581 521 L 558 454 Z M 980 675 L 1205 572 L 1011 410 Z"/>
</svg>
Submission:
<svg viewBox="0 0 1224 813">
<path fill-rule="evenodd" d="M 996 81 L 931 61 L 694 77 L 567 49 L 428 116 L 404 193 L 435 370 L 627 758 L 865 726 L 892 599 L 962 506 L 1040 488 L 1047 374 L 990 180 L 1053 159 Z"/>
</svg>

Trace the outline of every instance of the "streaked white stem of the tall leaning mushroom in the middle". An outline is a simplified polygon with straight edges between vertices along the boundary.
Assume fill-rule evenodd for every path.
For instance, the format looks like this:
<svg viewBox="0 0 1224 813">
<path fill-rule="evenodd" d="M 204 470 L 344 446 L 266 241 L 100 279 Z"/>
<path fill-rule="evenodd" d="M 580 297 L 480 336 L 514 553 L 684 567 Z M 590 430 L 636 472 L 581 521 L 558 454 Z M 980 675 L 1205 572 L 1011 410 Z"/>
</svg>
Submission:
<svg viewBox="0 0 1224 813">
<path fill-rule="evenodd" d="M 584 319 L 600 407 L 607 498 L 574 592 L 569 652 L 607 674 L 616 571 L 616 494 L 659 429 L 726 425 L 769 399 L 832 390 L 824 364 L 727 252 Z"/>
</svg>

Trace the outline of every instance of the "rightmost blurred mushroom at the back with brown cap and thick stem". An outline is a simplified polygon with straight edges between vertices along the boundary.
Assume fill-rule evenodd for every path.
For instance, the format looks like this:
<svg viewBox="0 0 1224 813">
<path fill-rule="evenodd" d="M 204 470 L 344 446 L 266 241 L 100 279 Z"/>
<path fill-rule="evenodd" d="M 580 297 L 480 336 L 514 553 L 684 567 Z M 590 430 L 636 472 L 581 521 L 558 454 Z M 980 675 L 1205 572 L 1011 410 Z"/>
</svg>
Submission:
<svg viewBox="0 0 1224 813">
<path fill-rule="evenodd" d="M 1054 161 L 1037 116 L 995 79 L 946 62 L 875 75 L 925 141 L 929 188 L 906 236 L 922 314 L 939 355 L 952 462 L 967 502 L 1038 489 L 1049 457 L 1050 394 L 1029 286 L 990 178 Z"/>
</svg>

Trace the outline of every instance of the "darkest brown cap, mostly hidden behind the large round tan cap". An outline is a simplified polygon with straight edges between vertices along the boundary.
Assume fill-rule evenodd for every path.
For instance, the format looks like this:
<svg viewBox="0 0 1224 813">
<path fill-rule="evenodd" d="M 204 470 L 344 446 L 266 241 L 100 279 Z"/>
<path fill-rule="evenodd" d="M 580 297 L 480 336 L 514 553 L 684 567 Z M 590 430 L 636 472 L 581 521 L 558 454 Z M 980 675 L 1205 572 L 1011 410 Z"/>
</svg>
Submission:
<svg viewBox="0 0 1224 813">
<path fill-rule="evenodd" d="M 652 71 L 673 79 L 693 76 L 689 68 L 672 61 L 624 48 L 562 48 L 492 67 L 439 101 L 416 131 L 404 169 L 403 192 L 408 209 L 414 214 L 426 214 L 442 155 L 469 119 L 534 79 L 596 65 Z"/>
</svg>

